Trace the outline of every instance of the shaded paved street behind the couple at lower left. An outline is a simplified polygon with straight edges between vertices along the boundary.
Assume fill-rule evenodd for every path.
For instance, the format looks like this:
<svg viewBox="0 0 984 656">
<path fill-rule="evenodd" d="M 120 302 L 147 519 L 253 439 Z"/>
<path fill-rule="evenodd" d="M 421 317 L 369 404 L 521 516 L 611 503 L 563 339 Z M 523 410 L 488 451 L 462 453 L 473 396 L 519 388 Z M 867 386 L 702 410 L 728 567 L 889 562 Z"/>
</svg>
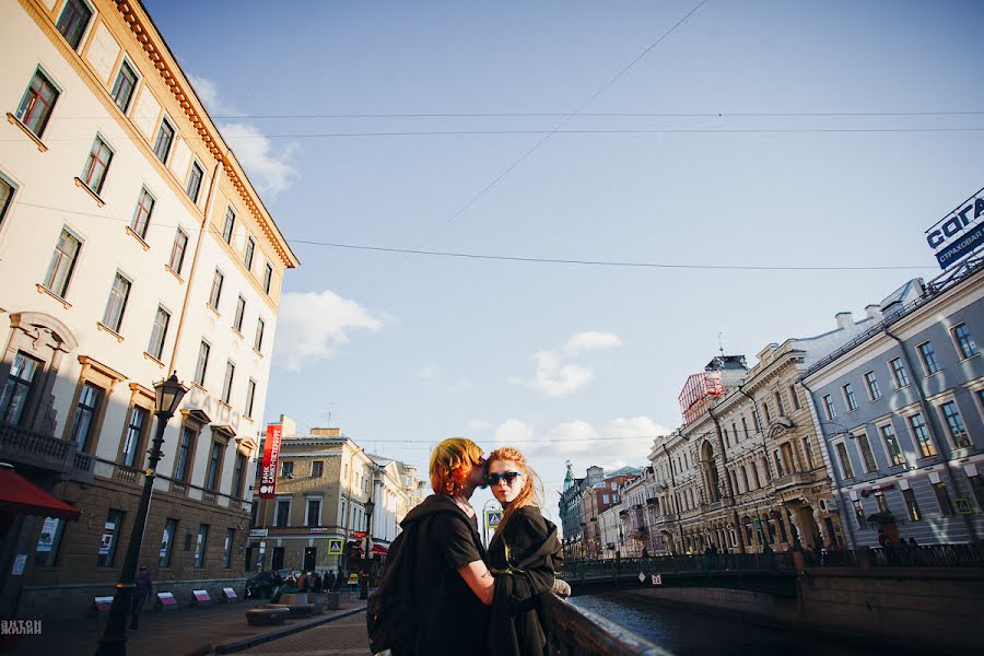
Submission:
<svg viewBox="0 0 984 656">
<path fill-rule="evenodd" d="M 211 608 L 184 608 L 172 612 L 151 612 L 140 618 L 140 630 L 131 631 L 127 642 L 128 653 L 140 656 L 183 656 L 188 654 L 214 653 L 216 647 L 232 647 L 241 641 L 255 636 L 272 636 L 284 630 L 312 625 L 313 629 L 301 631 L 295 635 L 253 647 L 259 649 L 249 653 L 291 652 L 291 645 L 303 645 L 298 649 L 319 652 L 318 654 L 368 654 L 365 635 L 365 614 L 359 612 L 365 608 L 365 601 L 343 599 L 340 610 L 326 611 L 323 616 L 311 619 L 290 620 L 283 626 L 250 626 L 246 623 L 244 611 L 261 606 L 261 601 L 241 602 L 232 606 L 213 606 Z M 329 621 L 332 617 L 343 617 Z M 327 623 L 326 623 L 327 621 Z M 339 624 L 336 628 L 336 623 Z M 102 634 L 104 620 L 85 619 L 77 621 L 46 621 L 39 636 L 23 636 L 14 652 L 23 656 L 48 656 L 70 647 L 72 653 L 92 653 Z M 323 626 L 318 626 L 324 624 Z M 316 632 L 317 639 L 308 637 Z M 268 645 L 281 646 L 268 646 Z M 361 646 L 361 651 L 359 647 Z M 266 649 L 266 651 L 265 651 Z M 325 651 L 328 649 L 328 651 Z M 333 649 L 333 651 L 332 651 Z M 341 649 L 341 651 L 339 651 Z M 301 652 L 297 652 L 301 653 Z"/>
</svg>

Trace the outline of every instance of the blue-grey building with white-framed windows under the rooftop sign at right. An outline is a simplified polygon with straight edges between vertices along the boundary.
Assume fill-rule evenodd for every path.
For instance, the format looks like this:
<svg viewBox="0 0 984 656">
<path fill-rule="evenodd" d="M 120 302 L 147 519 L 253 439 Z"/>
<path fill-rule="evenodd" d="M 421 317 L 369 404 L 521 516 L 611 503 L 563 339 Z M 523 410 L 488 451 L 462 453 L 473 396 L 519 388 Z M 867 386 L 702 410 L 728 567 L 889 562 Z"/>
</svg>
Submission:
<svg viewBox="0 0 984 656">
<path fill-rule="evenodd" d="M 909 281 L 810 366 L 817 433 L 854 547 L 984 538 L 984 257 Z"/>
</svg>

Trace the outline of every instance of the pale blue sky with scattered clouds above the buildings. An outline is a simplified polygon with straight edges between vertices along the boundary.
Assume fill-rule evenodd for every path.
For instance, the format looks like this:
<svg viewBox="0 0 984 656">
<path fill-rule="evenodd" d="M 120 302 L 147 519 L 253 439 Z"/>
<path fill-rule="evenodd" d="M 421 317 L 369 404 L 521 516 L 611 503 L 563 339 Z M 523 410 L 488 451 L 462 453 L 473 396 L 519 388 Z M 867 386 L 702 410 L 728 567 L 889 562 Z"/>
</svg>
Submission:
<svg viewBox="0 0 984 656">
<path fill-rule="evenodd" d="M 517 446 L 554 519 L 984 185 L 981 2 L 143 1 L 302 261 L 266 421 Z"/>
</svg>

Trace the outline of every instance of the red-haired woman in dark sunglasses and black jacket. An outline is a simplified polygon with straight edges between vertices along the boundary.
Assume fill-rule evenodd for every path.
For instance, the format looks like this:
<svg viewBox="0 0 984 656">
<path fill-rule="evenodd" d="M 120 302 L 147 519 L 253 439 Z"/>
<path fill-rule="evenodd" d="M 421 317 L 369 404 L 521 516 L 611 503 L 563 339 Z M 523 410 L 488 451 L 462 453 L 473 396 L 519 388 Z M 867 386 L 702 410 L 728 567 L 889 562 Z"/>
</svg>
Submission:
<svg viewBox="0 0 984 656">
<path fill-rule="evenodd" d="M 540 513 L 542 484 L 518 449 L 492 452 L 488 470 L 485 480 L 504 511 L 487 557 L 495 575 L 489 651 L 496 656 L 542 656 L 547 636 L 540 596 L 551 593 L 562 563 L 557 526 Z"/>
</svg>

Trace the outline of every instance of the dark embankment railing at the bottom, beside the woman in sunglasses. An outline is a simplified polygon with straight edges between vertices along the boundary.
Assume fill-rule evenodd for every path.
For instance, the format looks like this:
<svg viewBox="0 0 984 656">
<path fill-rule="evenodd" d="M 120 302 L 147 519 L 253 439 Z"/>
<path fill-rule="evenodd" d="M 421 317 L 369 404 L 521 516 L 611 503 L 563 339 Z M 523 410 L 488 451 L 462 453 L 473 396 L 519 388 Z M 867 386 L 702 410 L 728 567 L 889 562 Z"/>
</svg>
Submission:
<svg viewBox="0 0 984 656">
<path fill-rule="evenodd" d="M 653 643 L 553 595 L 543 595 L 543 631 L 551 656 L 670 656 Z"/>
</svg>

